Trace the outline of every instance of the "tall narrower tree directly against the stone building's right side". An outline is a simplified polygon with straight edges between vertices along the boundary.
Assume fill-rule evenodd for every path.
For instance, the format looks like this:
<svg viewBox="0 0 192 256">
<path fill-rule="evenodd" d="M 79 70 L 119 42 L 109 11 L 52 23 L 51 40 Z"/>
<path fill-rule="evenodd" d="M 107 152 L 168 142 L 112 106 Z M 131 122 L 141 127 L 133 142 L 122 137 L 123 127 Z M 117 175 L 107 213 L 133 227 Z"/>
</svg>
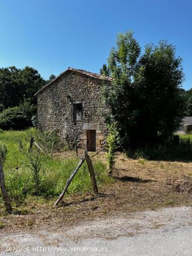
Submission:
<svg viewBox="0 0 192 256">
<path fill-rule="evenodd" d="M 133 77 L 140 51 L 139 43 L 130 31 L 118 35 L 116 47 L 111 48 L 108 57 L 108 69 L 113 80 L 110 87 L 105 86 L 104 96 L 112 110 L 112 119 L 119 123 L 124 147 L 130 144 L 131 130 L 134 129 L 135 118 L 139 112 Z"/>
</svg>

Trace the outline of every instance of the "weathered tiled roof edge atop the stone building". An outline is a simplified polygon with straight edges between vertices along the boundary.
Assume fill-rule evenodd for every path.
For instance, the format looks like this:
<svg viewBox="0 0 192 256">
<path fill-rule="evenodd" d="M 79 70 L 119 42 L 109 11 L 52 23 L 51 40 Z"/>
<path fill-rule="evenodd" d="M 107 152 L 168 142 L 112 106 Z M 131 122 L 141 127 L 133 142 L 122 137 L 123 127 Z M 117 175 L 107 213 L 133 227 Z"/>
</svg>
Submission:
<svg viewBox="0 0 192 256">
<path fill-rule="evenodd" d="M 53 82 L 57 81 L 58 79 L 60 79 L 60 77 L 62 75 L 64 75 L 66 72 L 77 72 L 77 73 L 81 73 L 81 74 L 84 74 L 86 76 L 90 76 L 90 77 L 94 77 L 95 79 L 101 79 L 101 80 L 107 80 L 107 81 L 111 81 L 112 78 L 110 76 L 102 76 L 102 75 L 99 75 L 97 73 L 93 73 L 93 72 L 89 72 L 89 71 L 85 71 L 85 70 L 82 70 L 82 69 L 77 69 L 77 68 L 68 68 L 66 69 L 64 72 L 62 72 L 59 76 L 57 76 L 55 79 L 53 79 L 51 82 L 49 82 L 47 85 L 43 86 L 43 88 L 41 88 L 40 90 L 38 90 L 38 92 L 35 93 L 35 96 L 40 93 L 42 90 L 44 90 L 45 88 L 47 88 L 49 85 L 53 84 Z"/>
</svg>

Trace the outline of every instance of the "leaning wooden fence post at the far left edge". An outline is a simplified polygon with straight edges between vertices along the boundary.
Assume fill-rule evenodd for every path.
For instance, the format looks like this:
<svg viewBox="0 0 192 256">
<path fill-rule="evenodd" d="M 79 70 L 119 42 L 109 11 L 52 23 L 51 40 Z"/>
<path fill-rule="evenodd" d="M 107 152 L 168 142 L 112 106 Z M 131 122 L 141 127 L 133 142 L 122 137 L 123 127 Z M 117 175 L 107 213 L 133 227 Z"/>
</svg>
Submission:
<svg viewBox="0 0 192 256">
<path fill-rule="evenodd" d="M 11 201 L 9 199 L 9 196 L 7 194 L 6 187 L 5 187 L 3 164 L 1 162 L 1 159 L 0 159 L 0 184 L 1 184 L 1 192 L 2 192 L 3 201 L 5 204 L 6 211 L 7 211 L 7 213 L 11 213 L 12 206 L 11 206 Z"/>
</svg>

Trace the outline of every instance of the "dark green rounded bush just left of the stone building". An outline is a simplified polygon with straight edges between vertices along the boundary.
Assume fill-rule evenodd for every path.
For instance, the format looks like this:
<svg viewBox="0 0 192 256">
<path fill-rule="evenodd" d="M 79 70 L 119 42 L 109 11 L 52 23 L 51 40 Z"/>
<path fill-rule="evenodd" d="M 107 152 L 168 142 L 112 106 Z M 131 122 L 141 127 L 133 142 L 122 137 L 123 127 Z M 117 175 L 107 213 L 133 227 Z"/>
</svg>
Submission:
<svg viewBox="0 0 192 256">
<path fill-rule="evenodd" d="M 3 130 L 22 130 L 32 126 L 31 117 L 36 108 L 28 102 L 24 102 L 14 108 L 8 108 L 0 113 L 0 128 Z"/>
</svg>

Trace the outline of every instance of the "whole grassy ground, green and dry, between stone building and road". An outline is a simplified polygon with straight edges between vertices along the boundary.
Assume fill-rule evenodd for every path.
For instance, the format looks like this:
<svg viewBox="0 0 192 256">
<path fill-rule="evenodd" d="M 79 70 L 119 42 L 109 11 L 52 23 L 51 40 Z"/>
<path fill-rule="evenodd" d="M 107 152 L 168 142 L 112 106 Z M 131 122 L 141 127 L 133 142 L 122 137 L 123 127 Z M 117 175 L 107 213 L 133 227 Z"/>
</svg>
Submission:
<svg viewBox="0 0 192 256">
<path fill-rule="evenodd" d="M 55 208 L 53 205 L 56 196 L 64 187 L 78 159 L 75 152 L 69 150 L 56 153 L 54 158 L 39 155 L 43 163 L 40 170 L 41 191 L 40 195 L 36 195 L 28 159 L 19 149 L 20 139 L 24 147 L 28 148 L 34 132 L 7 131 L 0 134 L 0 140 L 8 148 L 5 162 L 6 185 L 14 202 L 15 213 L 6 215 L 1 204 L 1 232 L 20 229 L 59 232 L 64 226 L 98 217 L 127 216 L 136 210 L 192 204 L 190 159 L 132 159 L 119 153 L 112 177 L 108 177 L 105 152 L 101 152 L 94 158 L 99 194 L 93 194 L 88 170 L 84 165 L 62 203 Z M 192 141 L 192 136 L 187 135 L 181 139 L 184 142 L 186 139 Z M 18 171 L 15 169 L 17 164 Z"/>
</svg>

